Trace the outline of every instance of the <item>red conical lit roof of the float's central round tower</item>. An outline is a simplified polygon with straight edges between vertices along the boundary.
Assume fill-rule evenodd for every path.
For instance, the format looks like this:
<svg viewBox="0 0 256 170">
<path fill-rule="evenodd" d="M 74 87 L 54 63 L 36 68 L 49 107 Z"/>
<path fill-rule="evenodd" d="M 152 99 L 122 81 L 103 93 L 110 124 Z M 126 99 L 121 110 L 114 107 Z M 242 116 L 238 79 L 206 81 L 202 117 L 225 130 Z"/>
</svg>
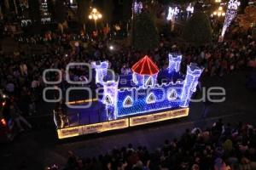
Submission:
<svg viewBox="0 0 256 170">
<path fill-rule="evenodd" d="M 148 55 L 145 55 L 143 59 L 140 59 L 135 65 L 133 65 L 131 70 L 137 74 L 148 76 L 157 74 L 159 72 L 158 66 L 154 64 Z"/>
</svg>

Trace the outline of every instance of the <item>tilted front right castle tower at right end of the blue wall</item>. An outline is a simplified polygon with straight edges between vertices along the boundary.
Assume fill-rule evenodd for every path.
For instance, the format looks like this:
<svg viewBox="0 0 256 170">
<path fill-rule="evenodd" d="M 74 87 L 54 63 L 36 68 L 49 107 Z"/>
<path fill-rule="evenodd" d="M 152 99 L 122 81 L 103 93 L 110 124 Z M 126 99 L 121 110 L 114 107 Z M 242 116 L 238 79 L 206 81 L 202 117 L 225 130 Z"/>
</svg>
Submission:
<svg viewBox="0 0 256 170">
<path fill-rule="evenodd" d="M 182 107 L 188 107 L 192 94 L 196 90 L 198 84 L 198 78 L 201 76 L 203 69 L 198 67 L 195 63 L 191 63 L 187 66 L 187 75 L 183 84 L 183 92 L 181 94 L 181 100 L 183 101 Z"/>
</svg>

